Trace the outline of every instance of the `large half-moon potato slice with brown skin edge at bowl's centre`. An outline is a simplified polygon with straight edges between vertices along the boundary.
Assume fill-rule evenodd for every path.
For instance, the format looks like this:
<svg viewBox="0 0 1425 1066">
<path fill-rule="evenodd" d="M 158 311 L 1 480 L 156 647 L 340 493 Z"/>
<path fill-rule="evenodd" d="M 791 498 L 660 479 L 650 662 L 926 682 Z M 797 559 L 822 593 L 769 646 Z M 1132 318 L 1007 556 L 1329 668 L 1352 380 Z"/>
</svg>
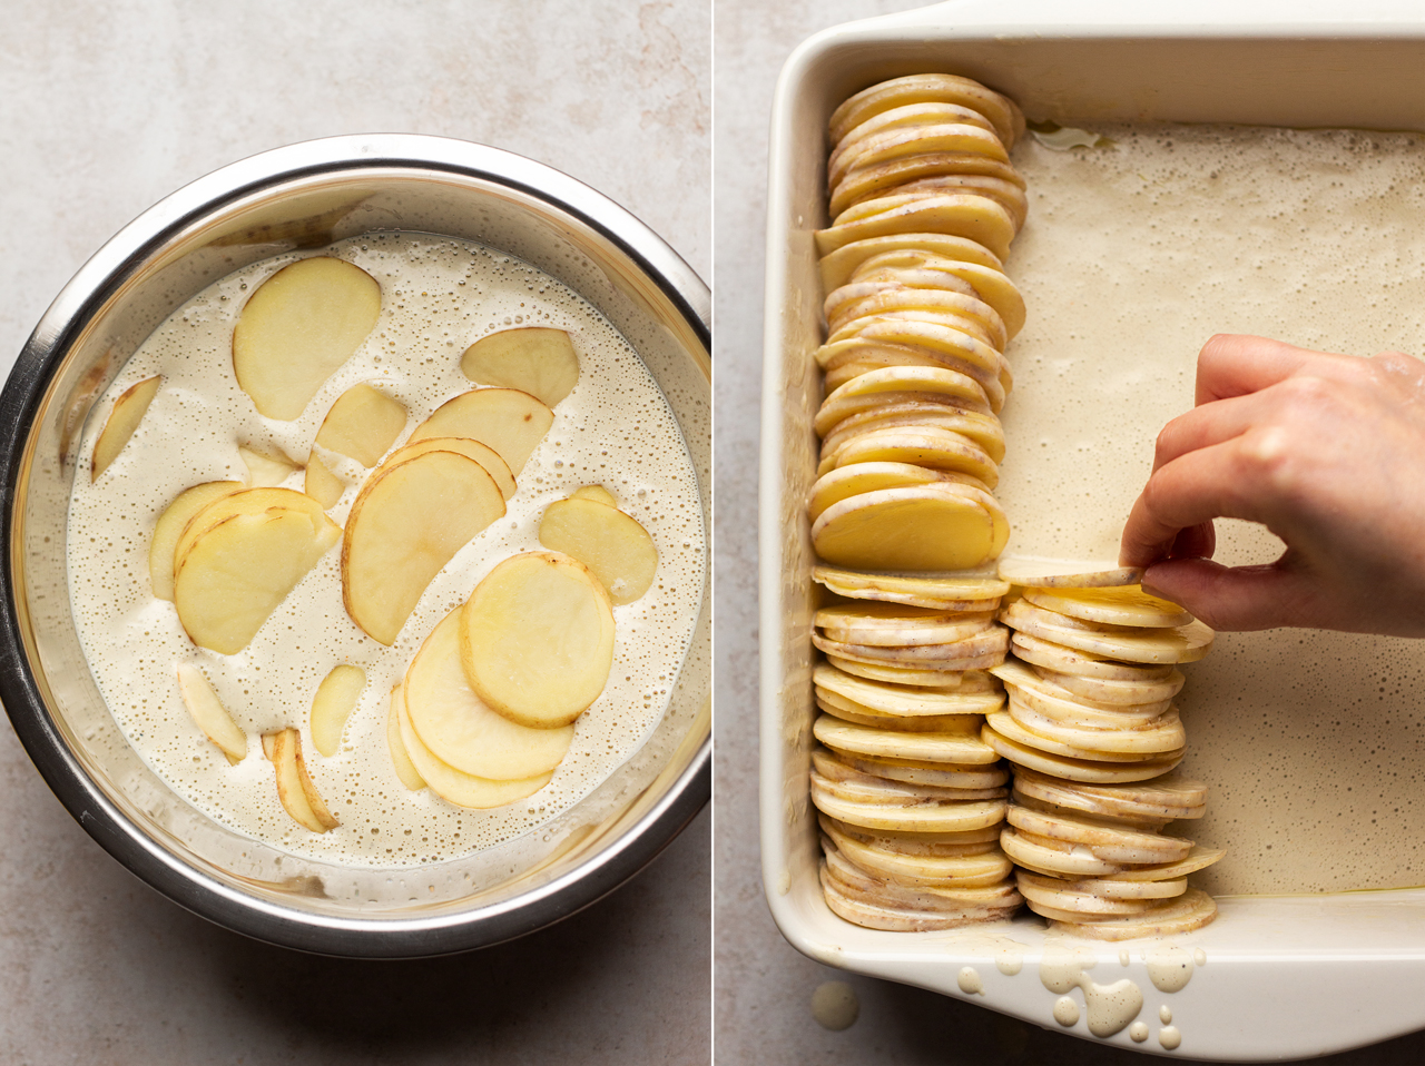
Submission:
<svg viewBox="0 0 1425 1066">
<path fill-rule="evenodd" d="M 365 633 L 393 644 L 430 580 L 503 514 L 494 479 L 463 455 L 426 452 L 378 470 L 346 520 L 346 613 Z"/>
</svg>

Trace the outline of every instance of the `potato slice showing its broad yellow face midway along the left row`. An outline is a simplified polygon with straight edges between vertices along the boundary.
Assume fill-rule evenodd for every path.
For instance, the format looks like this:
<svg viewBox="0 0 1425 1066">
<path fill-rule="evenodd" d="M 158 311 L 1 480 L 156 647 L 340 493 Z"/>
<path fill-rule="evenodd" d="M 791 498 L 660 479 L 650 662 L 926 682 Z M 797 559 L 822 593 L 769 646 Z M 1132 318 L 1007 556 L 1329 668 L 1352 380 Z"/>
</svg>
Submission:
<svg viewBox="0 0 1425 1066">
<path fill-rule="evenodd" d="M 982 503 L 933 485 L 852 496 L 811 530 L 821 559 L 868 570 L 969 570 L 999 554 L 1000 536 Z"/>
</svg>

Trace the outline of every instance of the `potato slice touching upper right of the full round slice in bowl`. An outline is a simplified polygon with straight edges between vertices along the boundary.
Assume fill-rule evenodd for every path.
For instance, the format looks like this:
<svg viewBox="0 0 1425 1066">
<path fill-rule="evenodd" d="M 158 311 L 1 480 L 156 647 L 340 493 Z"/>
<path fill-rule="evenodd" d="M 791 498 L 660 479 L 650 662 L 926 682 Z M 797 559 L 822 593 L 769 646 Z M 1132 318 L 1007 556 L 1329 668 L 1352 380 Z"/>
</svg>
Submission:
<svg viewBox="0 0 1425 1066">
<path fill-rule="evenodd" d="M 570 496 L 544 509 L 539 543 L 594 571 L 614 603 L 633 603 L 653 584 L 658 550 L 648 530 L 607 503 Z"/>
</svg>

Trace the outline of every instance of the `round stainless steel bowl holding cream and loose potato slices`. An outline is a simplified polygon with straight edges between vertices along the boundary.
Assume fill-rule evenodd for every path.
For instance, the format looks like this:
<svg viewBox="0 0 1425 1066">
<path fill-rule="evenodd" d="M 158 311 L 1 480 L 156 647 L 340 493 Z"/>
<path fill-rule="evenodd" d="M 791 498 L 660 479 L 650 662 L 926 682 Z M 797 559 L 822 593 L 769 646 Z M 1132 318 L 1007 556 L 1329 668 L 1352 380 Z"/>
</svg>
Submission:
<svg viewBox="0 0 1425 1066">
<path fill-rule="evenodd" d="M 70 613 L 66 512 L 80 430 L 152 329 L 258 259 L 372 231 L 479 241 L 589 299 L 634 345 L 677 415 L 711 516 L 707 286 L 610 200 L 549 167 L 463 141 L 333 137 L 224 167 L 162 200 L 90 259 L 0 395 L 4 537 L 0 698 L 50 788 L 114 858 L 177 904 L 326 955 L 413 958 L 566 918 L 641 869 L 710 794 L 708 581 L 673 703 L 647 742 L 534 835 L 410 871 L 294 858 L 211 821 L 124 741 Z"/>
</svg>

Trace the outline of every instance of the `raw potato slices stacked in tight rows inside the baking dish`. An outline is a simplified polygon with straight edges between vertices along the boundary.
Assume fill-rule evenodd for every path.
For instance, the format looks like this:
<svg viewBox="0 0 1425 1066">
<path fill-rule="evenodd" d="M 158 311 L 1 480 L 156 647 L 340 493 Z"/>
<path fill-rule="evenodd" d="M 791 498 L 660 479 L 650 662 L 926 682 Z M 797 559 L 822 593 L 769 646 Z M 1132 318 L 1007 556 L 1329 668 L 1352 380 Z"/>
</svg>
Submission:
<svg viewBox="0 0 1425 1066">
<path fill-rule="evenodd" d="M 1140 571 L 1006 557 L 995 502 L 1025 305 L 1003 274 L 1025 221 L 1013 101 L 945 74 L 831 118 L 817 234 L 826 396 L 808 504 L 826 904 L 875 929 L 1012 915 L 1099 939 L 1198 928 L 1187 875 L 1221 858 L 1161 832 L 1181 780 L 1180 663 L 1213 633 Z M 1003 761 L 1002 761 L 1003 760 Z"/>
</svg>

